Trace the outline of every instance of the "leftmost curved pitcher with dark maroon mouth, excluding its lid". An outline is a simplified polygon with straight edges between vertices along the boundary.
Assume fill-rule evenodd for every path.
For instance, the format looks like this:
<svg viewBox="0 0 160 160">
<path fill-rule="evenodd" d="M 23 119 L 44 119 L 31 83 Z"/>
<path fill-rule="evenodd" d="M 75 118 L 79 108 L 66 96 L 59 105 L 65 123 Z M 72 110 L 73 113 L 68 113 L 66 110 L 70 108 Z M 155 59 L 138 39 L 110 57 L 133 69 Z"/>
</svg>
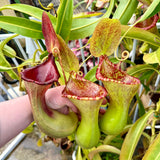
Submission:
<svg viewBox="0 0 160 160">
<path fill-rule="evenodd" d="M 59 78 L 53 55 L 49 54 L 45 62 L 25 69 L 21 75 L 31 102 L 34 120 L 41 131 L 50 137 L 71 135 L 77 128 L 76 114 L 62 114 L 49 108 L 45 101 L 46 91 Z"/>
</svg>

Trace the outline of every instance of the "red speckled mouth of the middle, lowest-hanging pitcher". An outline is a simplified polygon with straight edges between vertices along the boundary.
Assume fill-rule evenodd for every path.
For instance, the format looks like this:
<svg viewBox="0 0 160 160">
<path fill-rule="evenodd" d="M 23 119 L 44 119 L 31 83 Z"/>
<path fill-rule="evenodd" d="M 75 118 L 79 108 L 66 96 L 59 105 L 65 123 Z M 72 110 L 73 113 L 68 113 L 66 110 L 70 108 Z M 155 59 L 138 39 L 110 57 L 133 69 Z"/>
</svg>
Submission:
<svg viewBox="0 0 160 160">
<path fill-rule="evenodd" d="M 99 100 L 107 96 L 107 91 L 72 71 L 62 95 L 78 100 Z"/>
</svg>

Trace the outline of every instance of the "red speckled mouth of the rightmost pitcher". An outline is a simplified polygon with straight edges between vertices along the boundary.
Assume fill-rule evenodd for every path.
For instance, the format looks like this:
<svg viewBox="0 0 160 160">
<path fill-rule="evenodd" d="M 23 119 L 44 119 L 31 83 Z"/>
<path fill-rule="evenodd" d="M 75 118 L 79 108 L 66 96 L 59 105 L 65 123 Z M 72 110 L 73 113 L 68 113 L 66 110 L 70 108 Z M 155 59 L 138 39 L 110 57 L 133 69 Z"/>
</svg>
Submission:
<svg viewBox="0 0 160 160">
<path fill-rule="evenodd" d="M 96 78 L 101 81 L 111 81 L 126 85 L 139 84 L 139 79 L 128 75 L 119 68 L 119 65 L 113 64 L 107 56 L 101 56 L 96 71 Z"/>
</svg>

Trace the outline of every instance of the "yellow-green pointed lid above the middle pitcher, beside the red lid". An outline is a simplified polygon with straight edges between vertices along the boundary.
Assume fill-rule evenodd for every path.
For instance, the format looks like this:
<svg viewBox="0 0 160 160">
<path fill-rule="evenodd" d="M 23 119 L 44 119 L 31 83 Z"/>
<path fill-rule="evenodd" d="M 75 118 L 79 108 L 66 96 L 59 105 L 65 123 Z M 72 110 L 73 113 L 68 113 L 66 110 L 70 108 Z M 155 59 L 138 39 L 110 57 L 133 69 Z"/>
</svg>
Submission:
<svg viewBox="0 0 160 160">
<path fill-rule="evenodd" d="M 62 66 L 65 72 L 78 71 L 79 70 L 79 60 L 68 47 L 65 41 L 57 35 L 60 44 L 60 57 L 62 61 Z"/>
</svg>

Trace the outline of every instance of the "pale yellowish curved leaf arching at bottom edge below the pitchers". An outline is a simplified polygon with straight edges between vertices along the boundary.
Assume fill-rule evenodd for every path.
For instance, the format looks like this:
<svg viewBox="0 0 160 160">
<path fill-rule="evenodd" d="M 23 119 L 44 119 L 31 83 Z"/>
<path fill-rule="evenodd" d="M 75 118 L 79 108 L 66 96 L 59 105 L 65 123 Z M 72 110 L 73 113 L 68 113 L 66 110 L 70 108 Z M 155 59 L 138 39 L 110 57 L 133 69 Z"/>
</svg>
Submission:
<svg viewBox="0 0 160 160">
<path fill-rule="evenodd" d="M 110 145 L 100 145 L 97 148 L 92 149 L 92 151 L 88 154 L 89 159 L 93 159 L 94 155 L 96 155 L 99 152 L 111 152 L 120 154 L 120 150 L 116 147 L 110 146 Z"/>
</svg>

